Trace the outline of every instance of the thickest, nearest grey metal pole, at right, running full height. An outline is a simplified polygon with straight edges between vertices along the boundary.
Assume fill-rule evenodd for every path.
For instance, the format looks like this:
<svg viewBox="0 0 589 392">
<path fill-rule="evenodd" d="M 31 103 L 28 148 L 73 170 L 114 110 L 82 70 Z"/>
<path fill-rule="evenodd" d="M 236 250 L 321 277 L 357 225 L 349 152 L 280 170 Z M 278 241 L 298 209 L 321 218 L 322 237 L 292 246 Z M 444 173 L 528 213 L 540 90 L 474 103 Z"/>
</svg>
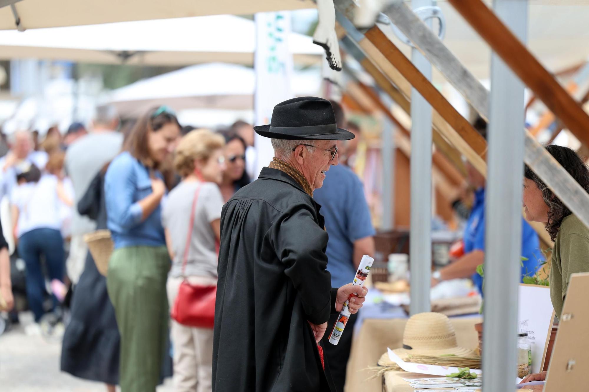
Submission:
<svg viewBox="0 0 589 392">
<path fill-rule="evenodd" d="M 494 0 L 495 13 L 526 41 L 527 0 Z M 485 217 L 483 390 L 511 391 L 517 375 L 518 283 L 524 167 L 524 84 L 491 57 Z"/>
</svg>

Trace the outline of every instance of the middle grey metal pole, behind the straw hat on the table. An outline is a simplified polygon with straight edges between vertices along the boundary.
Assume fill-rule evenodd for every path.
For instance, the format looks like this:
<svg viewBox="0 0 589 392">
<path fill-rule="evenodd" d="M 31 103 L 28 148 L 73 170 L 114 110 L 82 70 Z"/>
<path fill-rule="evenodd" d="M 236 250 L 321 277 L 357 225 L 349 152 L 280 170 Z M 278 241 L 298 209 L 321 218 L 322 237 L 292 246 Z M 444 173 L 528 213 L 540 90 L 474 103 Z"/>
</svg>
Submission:
<svg viewBox="0 0 589 392">
<path fill-rule="evenodd" d="M 412 0 L 413 9 L 432 0 Z M 429 22 L 431 27 L 431 22 Z M 432 65 L 413 48 L 411 60 L 431 80 Z M 411 314 L 429 312 L 432 268 L 432 107 L 411 89 Z"/>
</svg>

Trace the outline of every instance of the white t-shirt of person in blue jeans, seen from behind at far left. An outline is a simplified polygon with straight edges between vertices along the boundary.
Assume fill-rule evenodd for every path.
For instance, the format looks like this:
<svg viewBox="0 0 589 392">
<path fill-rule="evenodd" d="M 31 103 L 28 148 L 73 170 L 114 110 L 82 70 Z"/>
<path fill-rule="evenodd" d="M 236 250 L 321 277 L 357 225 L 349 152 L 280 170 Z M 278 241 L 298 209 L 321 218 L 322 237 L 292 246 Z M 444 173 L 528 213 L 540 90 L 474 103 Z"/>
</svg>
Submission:
<svg viewBox="0 0 589 392">
<path fill-rule="evenodd" d="M 65 193 L 72 200 L 71 181 L 63 181 Z M 69 208 L 57 195 L 57 177 L 44 174 L 38 182 L 27 182 L 12 190 L 11 204 L 18 208 L 18 237 L 37 228 L 61 230 Z"/>
</svg>

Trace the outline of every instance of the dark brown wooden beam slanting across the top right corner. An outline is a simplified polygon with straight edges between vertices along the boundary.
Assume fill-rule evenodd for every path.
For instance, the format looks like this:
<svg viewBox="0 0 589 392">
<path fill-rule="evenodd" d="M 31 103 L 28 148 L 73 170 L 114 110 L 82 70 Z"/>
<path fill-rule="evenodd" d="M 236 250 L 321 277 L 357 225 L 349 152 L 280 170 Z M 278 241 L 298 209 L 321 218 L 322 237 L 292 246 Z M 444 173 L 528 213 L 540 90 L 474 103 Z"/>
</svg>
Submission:
<svg viewBox="0 0 589 392">
<path fill-rule="evenodd" d="M 575 137 L 589 145 L 589 116 L 501 20 L 480 0 L 449 0 L 538 98 L 564 122 Z M 589 223 L 589 222 L 588 222 Z"/>
</svg>

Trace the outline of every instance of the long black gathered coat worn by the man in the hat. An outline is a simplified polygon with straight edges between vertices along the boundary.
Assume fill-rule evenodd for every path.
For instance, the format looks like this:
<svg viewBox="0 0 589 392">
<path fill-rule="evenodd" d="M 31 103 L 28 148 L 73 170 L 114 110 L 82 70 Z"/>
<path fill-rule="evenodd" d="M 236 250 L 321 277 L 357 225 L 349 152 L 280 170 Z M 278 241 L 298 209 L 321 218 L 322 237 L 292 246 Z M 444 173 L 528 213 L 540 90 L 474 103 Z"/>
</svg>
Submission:
<svg viewBox="0 0 589 392">
<path fill-rule="evenodd" d="M 335 391 L 307 323 L 335 313 L 320 207 L 271 168 L 224 205 L 214 392 Z"/>
</svg>

